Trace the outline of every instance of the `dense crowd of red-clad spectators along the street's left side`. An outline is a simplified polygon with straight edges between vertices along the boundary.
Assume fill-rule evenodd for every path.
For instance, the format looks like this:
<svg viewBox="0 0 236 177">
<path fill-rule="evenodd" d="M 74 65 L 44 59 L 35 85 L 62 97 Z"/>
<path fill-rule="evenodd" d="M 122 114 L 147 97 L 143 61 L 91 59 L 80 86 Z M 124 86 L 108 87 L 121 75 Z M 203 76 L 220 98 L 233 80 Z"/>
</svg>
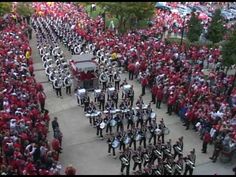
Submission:
<svg viewBox="0 0 236 177">
<path fill-rule="evenodd" d="M 27 28 L 9 16 L 0 33 L 0 174 L 55 175 L 59 156 L 47 140 L 49 111 L 34 78 Z"/>
</svg>

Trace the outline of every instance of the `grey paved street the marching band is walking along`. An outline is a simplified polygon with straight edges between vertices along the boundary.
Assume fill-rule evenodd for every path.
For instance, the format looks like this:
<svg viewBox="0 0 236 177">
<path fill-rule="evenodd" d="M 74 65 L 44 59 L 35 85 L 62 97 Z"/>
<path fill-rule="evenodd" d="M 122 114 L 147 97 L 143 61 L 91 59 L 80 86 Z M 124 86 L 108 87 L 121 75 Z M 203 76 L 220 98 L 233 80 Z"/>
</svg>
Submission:
<svg viewBox="0 0 236 177">
<path fill-rule="evenodd" d="M 57 116 L 60 124 L 60 129 L 63 132 L 63 153 L 60 155 L 60 162 L 63 165 L 62 173 L 64 174 L 64 167 L 73 164 L 77 169 L 77 174 L 81 175 L 117 175 L 120 174 L 120 161 L 107 156 L 108 145 L 105 140 L 100 140 L 96 136 L 96 129 L 89 126 L 88 119 L 84 116 L 83 108 L 78 106 L 74 95 L 68 96 L 63 89 L 63 99 L 57 98 L 56 93 L 52 89 L 52 85 L 47 82 L 47 78 L 42 66 L 41 58 L 36 48 L 35 34 L 31 40 L 31 47 L 33 50 L 35 75 L 38 82 L 43 84 L 45 93 L 47 95 L 46 109 L 50 112 L 51 120 Z M 68 51 L 63 48 L 66 58 L 70 58 Z M 122 77 L 128 77 L 126 73 Z M 141 87 L 137 81 L 129 81 L 134 85 L 135 101 L 141 94 Z M 91 96 L 92 97 L 92 96 Z M 93 97 L 92 97 L 93 98 Z M 121 95 L 120 97 L 121 98 Z M 151 101 L 151 94 L 147 90 L 144 96 L 144 102 L 147 104 Z M 215 173 L 220 175 L 233 175 L 232 167 L 236 164 L 234 158 L 233 162 L 223 164 L 219 160 L 212 163 L 209 157 L 212 155 L 213 146 L 208 146 L 207 154 L 201 153 L 202 141 L 197 133 L 193 130 L 185 130 L 180 119 L 175 116 L 166 114 L 166 106 L 162 105 L 162 109 L 157 110 L 153 106 L 153 110 L 157 113 L 157 121 L 164 118 L 164 122 L 171 130 L 170 134 L 166 136 L 166 140 L 172 139 L 174 143 L 180 136 L 184 137 L 184 156 L 190 150 L 196 149 L 196 168 L 193 172 L 195 175 L 213 175 Z M 52 130 L 50 124 L 49 141 L 52 138 Z M 116 151 L 118 154 L 119 152 Z M 133 167 L 133 162 L 131 162 Z"/>
</svg>

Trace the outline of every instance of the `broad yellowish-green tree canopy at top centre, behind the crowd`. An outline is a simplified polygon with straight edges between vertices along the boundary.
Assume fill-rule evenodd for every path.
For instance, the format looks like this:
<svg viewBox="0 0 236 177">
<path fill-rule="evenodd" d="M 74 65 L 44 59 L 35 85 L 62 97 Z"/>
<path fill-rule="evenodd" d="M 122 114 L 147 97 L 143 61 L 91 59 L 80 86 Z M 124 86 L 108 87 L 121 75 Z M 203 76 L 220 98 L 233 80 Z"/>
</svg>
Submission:
<svg viewBox="0 0 236 177">
<path fill-rule="evenodd" d="M 153 2 L 99 2 L 97 4 L 118 19 L 118 30 L 122 32 L 128 29 L 131 20 L 138 26 L 141 20 L 152 17 L 155 10 Z"/>
</svg>

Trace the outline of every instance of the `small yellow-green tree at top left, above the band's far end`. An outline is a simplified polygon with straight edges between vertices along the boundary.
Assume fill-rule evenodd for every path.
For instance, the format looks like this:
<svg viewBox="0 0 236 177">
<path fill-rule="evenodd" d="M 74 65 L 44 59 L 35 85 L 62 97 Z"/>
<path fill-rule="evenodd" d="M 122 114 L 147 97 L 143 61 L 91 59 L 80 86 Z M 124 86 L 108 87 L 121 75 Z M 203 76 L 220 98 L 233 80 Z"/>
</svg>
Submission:
<svg viewBox="0 0 236 177">
<path fill-rule="evenodd" d="M 18 2 L 16 6 L 16 12 L 22 17 L 27 17 L 31 16 L 34 13 L 34 10 L 30 3 Z"/>
</svg>

